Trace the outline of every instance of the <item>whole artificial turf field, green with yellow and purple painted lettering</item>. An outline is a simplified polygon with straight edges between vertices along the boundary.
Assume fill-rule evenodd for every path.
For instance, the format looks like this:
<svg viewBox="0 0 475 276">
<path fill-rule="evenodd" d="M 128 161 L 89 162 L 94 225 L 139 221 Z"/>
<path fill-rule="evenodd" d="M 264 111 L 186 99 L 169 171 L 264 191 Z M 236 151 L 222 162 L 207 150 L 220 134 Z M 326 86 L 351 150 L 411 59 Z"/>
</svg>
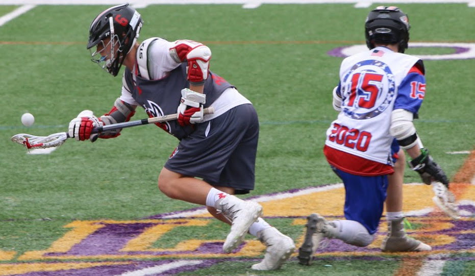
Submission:
<svg viewBox="0 0 475 276">
<path fill-rule="evenodd" d="M 297 247 L 308 214 L 342 217 L 343 189 L 322 153 L 337 115 L 331 92 L 342 57 L 336 53 L 365 43 L 364 19 L 378 5 L 137 8 L 145 21 L 139 40 L 204 42 L 213 52 L 210 70 L 254 103 L 261 125 L 256 189 L 242 198 L 260 201 L 265 219 Z M 86 50 L 91 20 L 109 6 L 39 5 L 0 25 L 0 275 L 475 274 L 475 59 L 467 50 L 475 44 L 475 7 L 397 6 L 409 14 L 410 41 L 432 45 L 407 50 L 427 57 L 427 93 L 415 126 L 463 211 L 458 221 L 443 215 L 431 187 L 406 170 L 408 231 L 433 252 L 381 253 L 382 223 L 367 248 L 331 241 L 311 266 L 298 265 L 295 254 L 281 270 L 254 271 L 263 245 L 247 236 L 238 250 L 223 254 L 229 226 L 157 189 L 178 144 L 161 129 L 134 127 L 116 139 L 71 140 L 50 154 L 26 154 L 12 135 L 66 131 L 83 109 L 102 115 L 121 86 L 121 77 L 97 68 Z M 0 16 L 18 7 L 0 5 Z M 25 112 L 36 118 L 32 127 L 21 125 Z M 146 117 L 138 109 L 133 119 Z"/>
</svg>

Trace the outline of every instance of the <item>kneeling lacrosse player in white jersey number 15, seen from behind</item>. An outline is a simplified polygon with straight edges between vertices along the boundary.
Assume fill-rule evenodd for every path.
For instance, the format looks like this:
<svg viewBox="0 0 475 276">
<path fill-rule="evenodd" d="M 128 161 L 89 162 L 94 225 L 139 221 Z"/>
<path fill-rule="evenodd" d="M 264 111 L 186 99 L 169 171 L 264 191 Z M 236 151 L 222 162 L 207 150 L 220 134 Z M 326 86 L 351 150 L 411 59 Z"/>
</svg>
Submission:
<svg viewBox="0 0 475 276">
<path fill-rule="evenodd" d="M 368 51 L 343 60 L 339 85 L 333 90 L 338 118 L 327 130 L 323 149 L 333 171 L 345 187 L 346 220 L 327 221 L 313 213 L 299 248 L 299 263 L 309 265 L 322 238 L 337 238 L 367 246 L 377 232 L 399 147 L 426 184 L 448 179 L 423 148 L 413 124 L 426 92 L 421 60 L 404 54 L 409 41 L 409 21 L 397 7 L 380 6 L 365 22 Z M 403 155 L 404 156 L 404 155 Z M 403 160 L 404 161 L 404 158 Z M 402 161 L 391 178 L 390 234 L 383 251 L 428 251 L 431 247 L 405 236 L 402 215 Z M 398 206 L 399 205 L 399 206 Z M 401 210 L 401 212 L 397 210 Z"/>
</svg>

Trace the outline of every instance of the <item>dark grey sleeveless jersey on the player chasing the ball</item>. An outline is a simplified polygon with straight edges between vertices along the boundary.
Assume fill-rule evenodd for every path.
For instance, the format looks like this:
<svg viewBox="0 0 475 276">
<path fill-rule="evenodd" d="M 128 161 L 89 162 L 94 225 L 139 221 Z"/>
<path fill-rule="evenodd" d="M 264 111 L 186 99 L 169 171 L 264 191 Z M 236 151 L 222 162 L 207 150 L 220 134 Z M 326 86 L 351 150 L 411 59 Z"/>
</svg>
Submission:
<svg viewBox="0 0 475 276">
<path fill-rule="evenodd" d="M 161 79 L 148 80 L 140 75 L 133 76 L 132 74 L 126 68 L 124 78 L 127 86 L 134 100 L 145 109 L 149 117 L 177 113 L 181 100 L 181 90 L 190 87 L 189 81 L 186 79 L 186 63 L 182 63 Z M 204 107 L 208 107 L 224 90 L 230 87 L 233 86 L 228 81 L 210 71 L 208 79 L 205 81 L 206 104 L 204 104 Z M 179 140 L 193 131 L 192 125 L 182 127 L 177 120 L 157 123 L 157 125 Z"/>
</svg>

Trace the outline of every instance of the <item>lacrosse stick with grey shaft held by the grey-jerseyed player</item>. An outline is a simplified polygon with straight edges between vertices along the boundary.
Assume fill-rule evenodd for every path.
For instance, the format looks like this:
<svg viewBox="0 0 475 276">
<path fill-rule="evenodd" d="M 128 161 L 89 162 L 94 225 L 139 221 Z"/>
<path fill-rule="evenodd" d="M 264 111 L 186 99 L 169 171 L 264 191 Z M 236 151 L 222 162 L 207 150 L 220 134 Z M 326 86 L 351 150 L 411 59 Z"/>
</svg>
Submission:
<svg viewBox="0 0 475 276">
<path fill-rule="evenodd" d="M 214 108 L 212 106 L 203 109 L 203 114 L 213 114 Z M 101 133 L 108 130 L 114 130 L 118 128 L 126 128 L 132 126 L 140 126 L 140 125 L 148 125 L 148 124 L 155 124 L 155 123 L 162 123 L 166 121 L 176 120 L 178 118 L 178 113 L 164 115 L 164 116 L 157 116 L 142 120 L 130 121 L 130 122 L 123 122 L 117 124 L 110 124 L 106 126 L 101 126 L 94 128 L 92 133 Z M 66 139 L 70 138 L 67 132 L 58 132 L 53 133 L 48 136 L 35 136 L 31 134 L 19 133 L 12 137 L 12 141 L 21 145 L 24 145 L 28 149 L 45 149 L 51 147 L 59 147 Z"/>
</svg>

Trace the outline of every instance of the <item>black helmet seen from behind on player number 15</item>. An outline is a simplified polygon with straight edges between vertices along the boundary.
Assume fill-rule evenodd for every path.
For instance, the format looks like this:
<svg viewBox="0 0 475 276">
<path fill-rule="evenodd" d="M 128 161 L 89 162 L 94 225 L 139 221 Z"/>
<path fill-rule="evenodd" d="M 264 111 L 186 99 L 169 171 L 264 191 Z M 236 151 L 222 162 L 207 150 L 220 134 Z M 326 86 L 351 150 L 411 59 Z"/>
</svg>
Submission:
<svg viewBox="0 0 475 276">
<path fill-rule="evenodd" d="M 399 8 L 379 6 L 369 12 L 364 24 L 366 45 L 374 48 L 372 42 L 398 44 L 399 52 L 404 53 L 409 41 L 409 19 Z"/>
</svg>

